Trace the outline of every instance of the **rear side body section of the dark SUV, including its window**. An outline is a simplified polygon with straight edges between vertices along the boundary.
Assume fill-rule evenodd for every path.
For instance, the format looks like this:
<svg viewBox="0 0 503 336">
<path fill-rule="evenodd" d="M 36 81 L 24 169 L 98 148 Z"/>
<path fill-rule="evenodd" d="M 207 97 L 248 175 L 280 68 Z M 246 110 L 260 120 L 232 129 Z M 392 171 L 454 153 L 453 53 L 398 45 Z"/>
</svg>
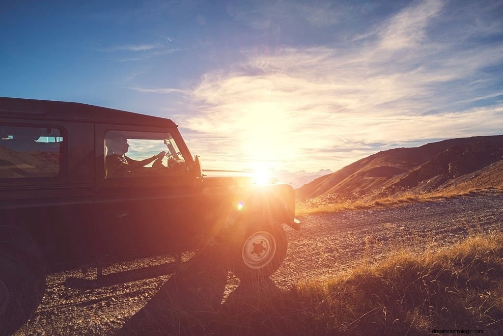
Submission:
<svg viewBox="0 0 503 336">
<path fill-rule="evenodd" d="M 29 232 L 53 270 L 92 254 L 92 123 L 0 123 L 0 218 Z"/>
</svg>

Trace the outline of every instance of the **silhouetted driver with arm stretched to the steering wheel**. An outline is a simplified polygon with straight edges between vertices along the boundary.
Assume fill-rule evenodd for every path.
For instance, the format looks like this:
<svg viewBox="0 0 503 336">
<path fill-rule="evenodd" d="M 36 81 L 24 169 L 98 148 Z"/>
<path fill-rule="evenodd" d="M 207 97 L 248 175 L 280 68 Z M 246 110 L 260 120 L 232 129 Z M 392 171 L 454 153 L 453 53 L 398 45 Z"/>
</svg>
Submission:
<svg viewBox="0 0 503 336">
<path fill-rule="evenodd" d="M 162 158 L 166 152 L 161 151 L 157 155 L 146 158 L 144 160 L 134 160 L 126 153 L 129 149 L 127 138 L 117 132 L 107 133 L 106 139 L 106 158 L 105 158 L 105 172 L 107 177 L 124 177 L 132 176 L 140 167 L 143 167 L 150 162 L 155 162 L 152 167 L 160 167 L 162 165 Z"/>
</svg>

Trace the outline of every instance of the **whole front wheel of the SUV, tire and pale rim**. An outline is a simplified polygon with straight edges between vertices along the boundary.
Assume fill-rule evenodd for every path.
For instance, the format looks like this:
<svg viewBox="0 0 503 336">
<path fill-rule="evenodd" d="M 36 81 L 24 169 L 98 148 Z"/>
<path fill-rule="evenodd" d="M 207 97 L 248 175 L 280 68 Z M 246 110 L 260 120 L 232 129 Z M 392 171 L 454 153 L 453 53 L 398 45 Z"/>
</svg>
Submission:
<svg viewBox="0 0 503 336">
<path fill-rule="evenodd" d="M 242 280 L 261 280 L 283 264 L 288 249 L 286 232 L 272 218 L 253 217 L 231 228 L 229 268 Z"/>
</svg>

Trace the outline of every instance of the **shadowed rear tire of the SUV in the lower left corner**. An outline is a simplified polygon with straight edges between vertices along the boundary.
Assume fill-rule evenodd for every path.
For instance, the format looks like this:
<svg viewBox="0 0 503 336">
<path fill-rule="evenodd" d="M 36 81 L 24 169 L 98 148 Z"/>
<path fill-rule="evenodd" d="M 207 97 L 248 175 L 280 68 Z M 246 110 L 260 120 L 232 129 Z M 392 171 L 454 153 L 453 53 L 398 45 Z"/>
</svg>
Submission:
<svg viewBox="0 0 503 336">
<path fill-rule="evenodd" d="M 26 323 L 45 290 L 42 269 L 18 250 L 0 249 L 0 335 Z"/>
</svg>

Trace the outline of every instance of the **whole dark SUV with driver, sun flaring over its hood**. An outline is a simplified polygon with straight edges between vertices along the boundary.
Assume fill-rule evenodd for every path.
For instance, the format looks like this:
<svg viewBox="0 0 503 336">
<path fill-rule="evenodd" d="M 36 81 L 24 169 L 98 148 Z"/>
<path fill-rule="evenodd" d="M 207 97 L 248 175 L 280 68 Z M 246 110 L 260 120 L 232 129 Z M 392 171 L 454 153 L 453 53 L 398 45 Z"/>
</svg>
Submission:
<svg viewBox="0 0 503 336">
<path fill-rule="evenodd" d="M 300 227 L 293 188 L 214 174 L 202 174 L 171 120 L 0 98 L 0 330 L 26 321 L 47 272 L 94 265 L 99 277 L 115 262 L 211 241 L 225 244 L 238 277 L 274 273 L 282 224 Z"/>
</svg>

